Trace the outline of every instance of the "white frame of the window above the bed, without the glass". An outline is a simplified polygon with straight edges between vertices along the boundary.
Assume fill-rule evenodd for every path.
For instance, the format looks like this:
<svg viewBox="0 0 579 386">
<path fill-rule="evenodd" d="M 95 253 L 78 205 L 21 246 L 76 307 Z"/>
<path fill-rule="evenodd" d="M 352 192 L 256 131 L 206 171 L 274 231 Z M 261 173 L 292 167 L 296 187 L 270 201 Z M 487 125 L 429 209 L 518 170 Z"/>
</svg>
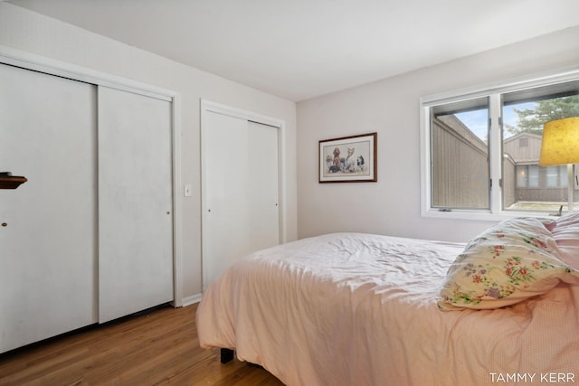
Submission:
<svg viewBox="0 0 579 386">
<path fill-rule="evenodd" d="M 425 96 L 420 99 L 420 148 L 421 148 L 421 215 L 422 217 L 434 217 L 457 220 L 489 220 L 501 221 L 518 216 L 545 217 L 545 212 L 520 212 L 502 210 L 502 190 L 500 180 L 502 175 L 502 122 L 501 122 L 501 98 L 502 94 L 523 89 L 579 80 L 579 68 L 550 71 L 543 74 L 506 80 L 498 83 L 482 85 L 470 89 L 460 89 L 440 94 Z M 489 178 L 490 178 L 490 209 L 469 210 L 451 209 L 443 211 L 440 208 L 432 208 L 431 198 L 431 118 L 430 109 L 447 103 L 461 100 L 489 98 Z"/>
</svg>

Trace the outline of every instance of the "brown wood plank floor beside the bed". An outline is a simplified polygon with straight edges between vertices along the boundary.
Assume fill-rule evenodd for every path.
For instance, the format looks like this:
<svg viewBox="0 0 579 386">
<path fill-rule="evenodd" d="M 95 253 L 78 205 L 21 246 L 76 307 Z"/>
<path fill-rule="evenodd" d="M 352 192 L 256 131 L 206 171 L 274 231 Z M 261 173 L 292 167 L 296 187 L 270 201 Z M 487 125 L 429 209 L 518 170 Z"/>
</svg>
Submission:
<svg viewBox="0 0 579 386">
<path fill-rule="evenodd" d="M 282 384 L 199 347 L 196 307 L 166 306 L 0 354 L 0 385 Z"/>
</svg>

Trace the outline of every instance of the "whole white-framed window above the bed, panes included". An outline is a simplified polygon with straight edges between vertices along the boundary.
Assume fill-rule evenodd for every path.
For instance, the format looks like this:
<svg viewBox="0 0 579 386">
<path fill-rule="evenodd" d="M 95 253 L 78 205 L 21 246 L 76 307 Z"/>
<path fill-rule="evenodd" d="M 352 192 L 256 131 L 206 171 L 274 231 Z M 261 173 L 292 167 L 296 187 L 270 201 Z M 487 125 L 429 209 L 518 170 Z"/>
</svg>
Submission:
<svg viewBox="0 0 579 386">
<path fill-rule="evenodd" d="M 579 71 L 421 104 L 423 214 L 545 215 L 566 207 L 566 165 L 538 160 L 545 122 L 579 116 Z"/>
</svg>

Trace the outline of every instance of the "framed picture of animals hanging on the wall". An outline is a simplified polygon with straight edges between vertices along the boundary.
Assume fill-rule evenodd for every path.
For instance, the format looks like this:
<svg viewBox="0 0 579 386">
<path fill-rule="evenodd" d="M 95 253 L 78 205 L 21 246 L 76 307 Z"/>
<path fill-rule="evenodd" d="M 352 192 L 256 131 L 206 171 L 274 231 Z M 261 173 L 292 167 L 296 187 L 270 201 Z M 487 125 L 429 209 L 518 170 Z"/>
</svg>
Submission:
<svg viewBox="0 0 579 386">
<path fill-rule="evenodd" d="M 376 182 L 377 133 L 319 141 L 319 183 Z"/>
</svg>

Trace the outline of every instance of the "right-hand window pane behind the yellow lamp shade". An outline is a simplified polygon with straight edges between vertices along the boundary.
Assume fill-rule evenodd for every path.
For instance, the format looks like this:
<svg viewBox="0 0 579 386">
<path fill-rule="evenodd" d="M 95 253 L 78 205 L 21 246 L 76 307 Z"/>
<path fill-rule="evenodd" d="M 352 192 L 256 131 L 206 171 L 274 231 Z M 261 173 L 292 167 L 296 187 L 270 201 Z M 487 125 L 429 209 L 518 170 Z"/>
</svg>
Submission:
<svg viewBox="0 0 579 386">
<path fill-rule="evenodd" d="M 503 207 L 508 211 L 557 211 L 566 207 L 566 166 L 539 166 L 543 126 L 579 115 L 576 82 L 503 95 Z M 510 171 L 515 168 L 516 177 Z M 575 196 L 574 196 L 575 198 Z"/>
</svg>

